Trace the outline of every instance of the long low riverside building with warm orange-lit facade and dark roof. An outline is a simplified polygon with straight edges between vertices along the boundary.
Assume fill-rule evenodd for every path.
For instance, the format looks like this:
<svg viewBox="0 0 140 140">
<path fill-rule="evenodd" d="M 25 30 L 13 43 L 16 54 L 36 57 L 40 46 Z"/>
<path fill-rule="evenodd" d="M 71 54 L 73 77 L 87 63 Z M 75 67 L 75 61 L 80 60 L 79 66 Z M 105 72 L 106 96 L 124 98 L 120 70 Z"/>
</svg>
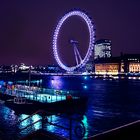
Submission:
<svg viewBox="0 0 140 140">
<path fill-rule="evenodd" d="M 140 73 L 140 54 L 124 54 L 120 57 L 95 60 L 95 74 Z"/>
</svg>

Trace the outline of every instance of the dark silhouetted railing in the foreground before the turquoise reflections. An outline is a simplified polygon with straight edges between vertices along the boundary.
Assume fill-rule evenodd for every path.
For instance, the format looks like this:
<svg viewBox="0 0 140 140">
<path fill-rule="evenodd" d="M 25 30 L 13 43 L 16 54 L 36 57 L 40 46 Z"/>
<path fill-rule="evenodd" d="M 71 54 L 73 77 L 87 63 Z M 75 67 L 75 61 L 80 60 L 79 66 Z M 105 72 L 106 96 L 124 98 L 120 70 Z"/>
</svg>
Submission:
<svg viewBox="0 0 140 140">
<path fill-rule="evenodd" d="M 38 122 L 41 122 L 42 123 L 42 127 L 41 127 L 42 130 L 46 130 L 46 127 L 45 127 L 46 125 L 58 127 L 59 129 L 61 129 L 61 130 L 63 129 L 64 131 L 67 131 L 69 133 L 68 135 L 69 135 L 70 140 L 72 140 L 73 134 L 74 134 L 74 137 L 77 137 L 78 139 L 82 139 L 85 135 L 85 126 L 84 126 L 83 122 L 81 121 L 80 117 L 73 118 L 71 116 L 66 116 L 66 115 L 62 115 L 62 114 L 55 114 L 57 117 L 60 117 L 62 119 L 67 119 L 68 126 L 65 126 L 65 125 L 63 125 L 62 122 L 60 124 L 58 122 L 53 121 L 53 114 L 48 113 L 48 112 L 43 111 L 43 110 L 38 110 L 35 113 L 31 114 L 30 116 L 28 116 L 22 120 L 19 120 L 18 125 L 22 124 L 24 121 L 27 121 L 28 119 L 30 119 L 31 117 L 33 117 L 36 114 L 39 114 L 41 116 L 41 118 L 36 120 L 35 122 L 32 122 L 32 123 L 26 125 L 25 127 L 20 128 L 19 132 L 22 132 L 23 130 L 28 129 L 28 128 L 32 128 L 33 125 L 35 125 Z M 73 125 L 73 124 L 75 124 L 75 125 Z M 47 130 L 46 130 L 46 132 L 47 132 Z M 54 134 L 54 135 L 56 135 L 56 134 Z M 63 137 L 62 137 L 62 139 L 63 139 Z"/>
</svg>

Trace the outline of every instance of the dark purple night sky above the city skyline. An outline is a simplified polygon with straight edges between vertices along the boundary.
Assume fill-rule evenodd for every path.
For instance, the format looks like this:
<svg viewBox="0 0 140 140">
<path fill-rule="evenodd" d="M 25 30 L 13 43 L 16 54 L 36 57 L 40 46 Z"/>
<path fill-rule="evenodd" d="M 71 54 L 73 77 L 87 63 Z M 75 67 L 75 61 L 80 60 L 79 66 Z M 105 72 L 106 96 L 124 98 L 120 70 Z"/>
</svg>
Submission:
<svg viewBox="0 0 140 140">
<path fill-rule="evenodd" d="M 0 64 L 56 64 L 53 32 L 59 19 L 74 8 L 92 17 L 96 40 L 111 39 L 113 56 L 140 53 L 139 0 L 0 0 Z M 63 44 L 60 53 L 64 59 L 71 59 L 62 48 L 69 39 L 78 40 L 81 46 L 88 41 L 86 26 L 81 19 L 74 23 L 76 20 L 71 18 L 61 30 L 59 44 Z"/>
</svg>

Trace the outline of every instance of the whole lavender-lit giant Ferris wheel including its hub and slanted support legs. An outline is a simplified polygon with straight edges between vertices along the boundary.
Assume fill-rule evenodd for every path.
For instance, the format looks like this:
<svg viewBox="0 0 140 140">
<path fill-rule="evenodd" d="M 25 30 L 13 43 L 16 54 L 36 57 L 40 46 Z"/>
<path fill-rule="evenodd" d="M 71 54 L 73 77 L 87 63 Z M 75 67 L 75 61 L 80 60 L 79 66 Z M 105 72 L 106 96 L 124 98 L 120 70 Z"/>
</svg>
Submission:
<svg viewBox="0 0 140 140">
<path fill-rule="evenodd" d="M 69 41 L 69 43 L 73 47 L 73 53 L 75 56 L 76 64 L 73 66 L 67 66 L 67 64 L 64 64 L 62 62 L 60 54 L 59 54 L 58 37 L 60 36 L 60 29 L 62 28 L 62 25 L 64 24 L 64 22 L 66 22 L 67 19 L 69 19 L 72 16 L 78 16 L 85 21 L 87 29 L 88 29 L 88 34 L 89 34 L 89 42 L 88 42 L 88 48 L 86 50 L 86 53 L 82 57 L 80 55 L 80 52 L 78 49 L 79 42 L 77 40 L 73 40 L 73 39 L 71 39 Z M 54 57 L 55 57 L 58 65 L 62 69 L 66 70 L 68 72 L 73 72 L 74 70 L 83 67 L 88 62 L 88 60 L 92 54 L 92 50 L 94 47 L 94 39 L 95 39 L 94 27 L 93 27 L 91 19 L 88 17 L 88 15 L 86 13 L 76 10 L 76 11 L 71 11 L 71 12 L 68 12 L 67 14 L 65 14 L 58 22 L 56 29 L 54 31 L 54 35 L 53 35 L 53 53 L 54 53 Z"/>
</svg>

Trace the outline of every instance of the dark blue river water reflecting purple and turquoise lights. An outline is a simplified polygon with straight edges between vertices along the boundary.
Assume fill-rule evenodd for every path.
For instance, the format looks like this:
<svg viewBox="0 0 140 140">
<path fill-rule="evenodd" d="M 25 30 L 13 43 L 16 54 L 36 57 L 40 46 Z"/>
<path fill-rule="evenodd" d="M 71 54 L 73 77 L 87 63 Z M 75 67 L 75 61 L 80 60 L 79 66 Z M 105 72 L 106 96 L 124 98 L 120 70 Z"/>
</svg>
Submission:
<svg viewBox="0 0 140 140">
<path fill-rule="evenodd" d="M 74 95 L 88 97 L 86 110 L 82 112 L 82 121 L 86 130 L 85 138 L 140 119 L 139 79 L 46 76 L 41 86 L 76 91 L 73 92 Z M 0 104 L 0 135 L 3 139 L 14 139 L 12 135 L 16 134 L 18 119 L 23 119 L 26 116 L 28 115 L 16 115 L 13 110 Z M 39 116 L 33 116 L 32 121 L 37 118 Z M 58 123 L 66 121 L 55 115 L 53 115 L 53 119 Z M 30 121 L 26 123 L 30 123 Z M 36 124 L 33 129 L 39 128 L 40 124 Z M 53 126 L 46 127 L 46 129 L 68 137 L 64 130 Z"/>
</svg>

